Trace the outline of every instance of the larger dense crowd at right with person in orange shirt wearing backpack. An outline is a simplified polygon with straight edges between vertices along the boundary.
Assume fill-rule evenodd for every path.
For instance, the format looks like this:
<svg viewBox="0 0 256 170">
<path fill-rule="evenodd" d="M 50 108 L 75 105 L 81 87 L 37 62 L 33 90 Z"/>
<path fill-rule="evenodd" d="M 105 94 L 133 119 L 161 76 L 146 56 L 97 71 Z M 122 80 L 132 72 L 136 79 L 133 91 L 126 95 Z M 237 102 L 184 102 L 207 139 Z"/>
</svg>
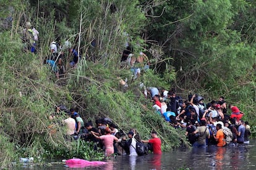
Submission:
<svg viewBox="0 0 256 170">
<path fill-rule="evenodd" d="M 147 89 L 152 97 L 152 109 L 174 128 L 186 129 L 193 147 L 249 144 L 250 126 L 242 120 L 244 113 L 232 104 L 227 105 L 223 96 L 218 101 L 204 103 L 200 95 L 189 95 L 187 100 L 182 100 L 173 89 L 161 89 L 161 93 L 156 87 Z"/>
</svg>

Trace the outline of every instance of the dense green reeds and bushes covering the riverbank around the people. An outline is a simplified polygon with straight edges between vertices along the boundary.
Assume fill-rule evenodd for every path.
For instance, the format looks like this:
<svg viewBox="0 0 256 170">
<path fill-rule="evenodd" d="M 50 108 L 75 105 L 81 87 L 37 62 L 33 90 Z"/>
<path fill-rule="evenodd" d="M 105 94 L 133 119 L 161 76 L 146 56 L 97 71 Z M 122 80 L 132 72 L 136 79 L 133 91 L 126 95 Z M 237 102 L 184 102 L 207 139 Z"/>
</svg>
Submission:
<svg viewBox="0 0 256 170">
<path fill-rule="evenodd" d="M 190 92 L 208 100 L 224 95 L 245 113 L 256 133 L 253 1 L 14 0 L 1 1 L 1 9 L 5 9 L 0 10 L 1 168 L 22 154 L 101 158 L 100 153 L 88 154 L 90 144 L 79 142 L 86 148 L 73 148 L 64 140 L 64 127 L 49 129 L 48 116 L 59 103 L 79 108 L 85 120 L 108 116 L 126 132 L 135 127 L 144 139 L 155 129 L 164 150 L 178 147 L 185 141 L 184 133 L 151 111 L 140 82 L 174 87 L 184 98 Z M 2 18 L 9 15 L 13 21 L 6 29 Z M 22 52 L 20 35 L 26 21 L 40 32 L 36 55 Z M 119 62 L 125 33 L 134 54 L 143 51 L 151 62 L 151 69 L 136 80 Z M 62 44 L 67 39 L 74 42 L 82 54 L 78 68 L 67 70 L 59 80 L 43 64 L 50 42 L 57 38 Z M 67 66 L 69 60 L 64 61 Z M 128 78 L 126 91 L 118 77 Z M 65 148 L 69 152 L 63 152 Z"/>
</svg>

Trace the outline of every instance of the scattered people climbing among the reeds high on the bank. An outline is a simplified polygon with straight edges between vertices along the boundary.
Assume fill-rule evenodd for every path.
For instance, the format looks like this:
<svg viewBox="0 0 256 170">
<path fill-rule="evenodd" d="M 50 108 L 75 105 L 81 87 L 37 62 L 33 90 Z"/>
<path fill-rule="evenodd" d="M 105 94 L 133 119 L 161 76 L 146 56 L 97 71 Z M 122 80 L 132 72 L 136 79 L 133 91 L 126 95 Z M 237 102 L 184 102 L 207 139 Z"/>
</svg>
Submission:
<svg viewBox="0 0 256 170">
<path fill-rule="evenodd" d="M 132 79 L 137 79 L 142 71 L 148 70 L 148 57 L 142 51 L 134 52 L 129 44 L 129 34 L 125 34 L 127 42 L 125 42 L 125 49 L 121 57 L 121 66 L 130 70 Z M 25 28 L 22 31 L 23 51 L 36 54 L 38 51 L 38 35 L 38 30 L 30 22 L 26 22 Z M 92 41 L 91 45 L 95 47 L 95 43 L 95 41 Z M 74 44 L 71 44 L 68 40 L 61 44 L 60 38 L 49 44 L 49 55 L 45 57 L 44 63 L 50 65 L 51 71 L 53 71 L 57 79 L 66 73 L 67 68 L 65 68 L 65 65 L 69 68 L 76 68 L 79 60 L 82 59 L 79 49 L 74 49 L 72 46 Z M 128 86 L 127 80 L 124 81 L 120 78 L 120 83 L 124 87 Z"/>
</svg>

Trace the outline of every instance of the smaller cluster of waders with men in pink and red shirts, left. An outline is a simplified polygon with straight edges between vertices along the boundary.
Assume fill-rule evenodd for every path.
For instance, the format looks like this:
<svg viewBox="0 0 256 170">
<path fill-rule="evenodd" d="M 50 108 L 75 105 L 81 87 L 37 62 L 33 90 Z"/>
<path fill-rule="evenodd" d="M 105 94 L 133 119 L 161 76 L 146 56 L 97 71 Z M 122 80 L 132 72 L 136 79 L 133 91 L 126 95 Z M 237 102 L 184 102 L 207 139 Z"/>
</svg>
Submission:
<svg viewBox="0 0 256 170">
<path fill-rule="evenodd" d="M 59 119 L 56 116 L 58 117 L 61 113 L 65 113 L 67 118 L 58 122 Z M 147 154 L 148 150 L 161 154 L 161 140 L 155 131 L 151 132 L 151 139 L 141 140 L 139 133 L 132 127 L 125 134 L 121 129 L 117 129 L 116 124 L 109 118 L 96 119 L 96 126 L 93 126 L 92 121 L 85 123 L 77 110 L 74 108 L 67 110 L 64 105 L 56 107 L 56 113 L 49 116 L 49 119 L 53 123 L 66 125 L 66 140 L 82 139 L 93 142 L 94 150 L 100 148 L 105 151 L 106 156 L 113 153 L 138 156 Z"/>
</svg>

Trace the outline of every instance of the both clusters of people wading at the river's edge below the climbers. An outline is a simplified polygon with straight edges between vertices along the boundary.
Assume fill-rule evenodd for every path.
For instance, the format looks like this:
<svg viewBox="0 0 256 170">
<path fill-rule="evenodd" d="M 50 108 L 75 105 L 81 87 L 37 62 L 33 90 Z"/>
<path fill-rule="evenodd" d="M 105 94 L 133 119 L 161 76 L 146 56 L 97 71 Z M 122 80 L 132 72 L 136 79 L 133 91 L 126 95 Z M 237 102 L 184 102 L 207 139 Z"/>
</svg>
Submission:
<svg viewBox="0 0 256 170">
<path fill-rule="evenodd" d="M 176 96 L 173 89 L 159 91 L 156 87 L 148 87 L 147 95 L 151 98 L 152 110 L 175 129 L 184 129 L 193 147 L 249 144 L 250 126 L 242 120 L 244 113 L 234 105 L 227 105 L 223 96 L 218 101 L 204 103 L 200 95 L 189 95 L 187 100 L 183 100 Z M 231 115 L 228 115 L 228 109 Z M 94 150 L 101 148 L 105 150 L 106 156 L 113 153 L 137 156 L 138 142 L 153 153 L 161 154 L 161 139 L 155 131 L 151 132 L 151 139 L 142 140 L 134 128 L 126 134 L 110 118 L 96 119 L 96 125 L 93 126 L 92 121 L 85 123 L 77 110 L 67 110 L 63 105 L 59 105 L 49 119 L 54 120 L 60 112 L 67 115 L 62 121 L 67 126 L 67 140 L 93 142 Z"/>
</svg>

